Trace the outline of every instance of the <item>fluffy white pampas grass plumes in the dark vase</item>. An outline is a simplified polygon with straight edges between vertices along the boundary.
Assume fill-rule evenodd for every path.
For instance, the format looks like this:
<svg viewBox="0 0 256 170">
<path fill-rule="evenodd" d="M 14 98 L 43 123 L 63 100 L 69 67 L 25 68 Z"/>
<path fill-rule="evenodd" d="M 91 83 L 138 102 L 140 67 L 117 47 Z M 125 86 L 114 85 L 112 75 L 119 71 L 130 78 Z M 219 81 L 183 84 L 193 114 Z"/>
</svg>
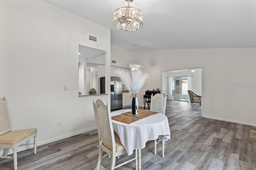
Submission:
<svg viewBox="0 0 256 170">
<path fill-rule="evenodd" d="M 120 77 L 124 86 L 129 88 L 130 94 L 132 94 L 134 98 L 136 98 L 137 93 L 140 92 L 148 79 L 148 74 L 143 73 L 139 68 L 136 70 L 117 69 L 114 73 L 116 76 Z"/>
</svg>

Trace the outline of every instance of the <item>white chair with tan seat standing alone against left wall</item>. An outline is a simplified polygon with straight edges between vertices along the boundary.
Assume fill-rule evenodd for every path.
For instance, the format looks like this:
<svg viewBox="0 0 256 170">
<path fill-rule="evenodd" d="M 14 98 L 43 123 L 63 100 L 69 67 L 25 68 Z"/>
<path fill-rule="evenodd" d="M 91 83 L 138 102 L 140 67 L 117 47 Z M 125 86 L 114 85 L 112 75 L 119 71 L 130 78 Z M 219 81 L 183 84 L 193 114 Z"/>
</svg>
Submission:
<svg viewBox="0 0 256 170">
<path fill-rule="evenodd" d="M 36 136 L 37 129 L 12 130 L 7 100 L 0 98 L 0 148 L 4 149 L 3 156 L 0 158 L 11 158 L 14 162 L 14 170 L 17 170 L 17 148 L 22 145 L 34 145 L 34 154 L 36 154 Z M 34 137 L 34 143 L 27 143 Z M 8 156 L 10 149 L 13 150 L 13 156 Z"/>
</svg>

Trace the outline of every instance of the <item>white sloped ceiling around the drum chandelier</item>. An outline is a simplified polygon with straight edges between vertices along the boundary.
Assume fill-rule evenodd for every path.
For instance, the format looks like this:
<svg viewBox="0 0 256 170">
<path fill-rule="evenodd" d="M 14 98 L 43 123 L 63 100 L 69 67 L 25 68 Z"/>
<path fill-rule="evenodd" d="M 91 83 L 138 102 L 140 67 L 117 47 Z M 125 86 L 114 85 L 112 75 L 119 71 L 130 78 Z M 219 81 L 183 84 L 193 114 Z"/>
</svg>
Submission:
<svg viewBox="0 0 256 170">
<path fill-rule="evenodd" d="M 111 44 L 132 49 L 256 47 L 256 0 L 134 0 L 143 27 L 120 31 L 113 25 L 125 0 L 44 0 L 109 27 Z"/>
</svg>

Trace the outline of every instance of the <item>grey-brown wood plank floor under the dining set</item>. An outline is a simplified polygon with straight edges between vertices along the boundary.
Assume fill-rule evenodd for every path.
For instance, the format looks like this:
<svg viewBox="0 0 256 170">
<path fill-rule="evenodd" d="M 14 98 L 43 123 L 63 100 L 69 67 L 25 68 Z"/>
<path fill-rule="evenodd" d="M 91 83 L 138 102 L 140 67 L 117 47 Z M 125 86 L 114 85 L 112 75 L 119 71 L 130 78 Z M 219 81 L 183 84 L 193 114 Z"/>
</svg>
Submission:
<svg viewBox="0 0 256 170">
<path fill-rule="evenodd" d="M 154 155 L 154 141 L 142 149 L 142 169 L 148 170 L 255 170 L 256 139 L 250 129 L 256 127 L 201 117 L 195 103 L 167 101 L 166 116 L 171 140 L 166 142 L 162 158 L 161 143 Z M 98 159 L 97 131 L 90 131 L 60 141 L 18 152 L 19 170 L 92 170 Z M 134 154 L 116 159 L 124 162 Z M 117 170 L 132 170 L 130 162 Z M 0 170 L 13 170 L 13 160 L 0 158 Z M 102 158 L 101 170 L 110 169 L 110 159 Z"/>
</svg>

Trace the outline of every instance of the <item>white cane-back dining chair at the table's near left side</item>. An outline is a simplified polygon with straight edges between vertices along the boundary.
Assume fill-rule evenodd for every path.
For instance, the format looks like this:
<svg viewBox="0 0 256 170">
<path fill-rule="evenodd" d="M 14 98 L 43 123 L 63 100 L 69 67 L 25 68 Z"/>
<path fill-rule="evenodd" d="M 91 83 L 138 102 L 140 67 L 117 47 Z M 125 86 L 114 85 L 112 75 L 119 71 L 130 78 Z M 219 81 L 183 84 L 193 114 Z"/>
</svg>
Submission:
<svg viewBox="0 0 256 170">
<path fill-rule="evenodd" d="M 118 135 L 114 133 L 111 115 L 109 113 L 108 103 L 98 99 L 93 100 L 94 115 L 97 124 L 98 138 L 99 138 L 99 156 L 96 169 L 100 168 L 101 159 L 105 156 L 111 155 L 110 170 L 120 167 L 128 162 L 135 160 L 135 168 L 138 169 L 138 152 L 135 150 L 135 158 L 132 158 L 122 164 L 115 166 L 116 157 L 126 153 Z M 107 154 L 102 156 L 103 151 Z"/>
</svg>

